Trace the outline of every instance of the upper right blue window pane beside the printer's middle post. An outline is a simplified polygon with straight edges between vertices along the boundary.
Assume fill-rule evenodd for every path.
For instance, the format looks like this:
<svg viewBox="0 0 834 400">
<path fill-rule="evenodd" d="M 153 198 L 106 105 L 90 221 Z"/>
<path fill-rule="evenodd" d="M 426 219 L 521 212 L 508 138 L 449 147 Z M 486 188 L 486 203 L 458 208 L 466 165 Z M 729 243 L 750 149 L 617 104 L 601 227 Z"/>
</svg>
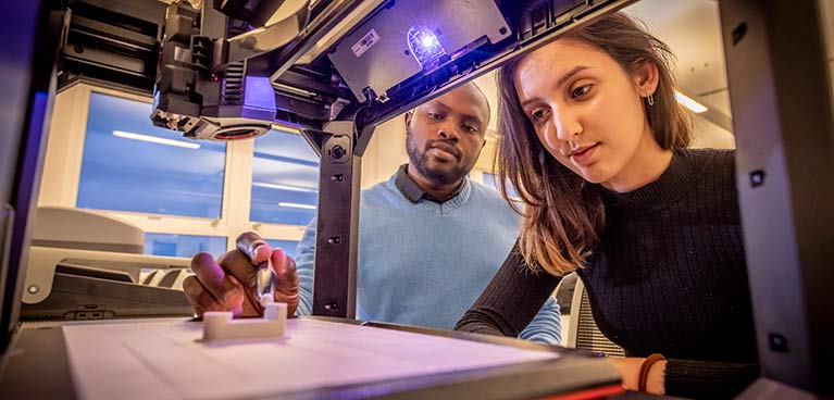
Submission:
<svg viewBox="0 0 834 400">
<path fill-rule="evenodd" d="M 250 220 L 307 225 L 319 203 L 319 157 L 303 137 L 271 130 L 254 139 Z"/>
</svg>

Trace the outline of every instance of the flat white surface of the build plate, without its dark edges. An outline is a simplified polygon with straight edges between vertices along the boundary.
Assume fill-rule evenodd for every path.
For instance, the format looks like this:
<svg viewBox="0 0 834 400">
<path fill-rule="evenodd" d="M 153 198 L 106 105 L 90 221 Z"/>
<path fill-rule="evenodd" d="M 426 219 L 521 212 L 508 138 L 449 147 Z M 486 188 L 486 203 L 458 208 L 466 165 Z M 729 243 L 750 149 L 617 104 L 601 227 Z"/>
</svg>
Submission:
<svg viewBox="0 0 834 400">
<path fill-rule="evenodd" d="M 240 399 L 558 358 L 447 337 L 290 318 L 283 338 L 203 341 L 183 320 L 63 327 L 80 399 Z"/>
</svg>

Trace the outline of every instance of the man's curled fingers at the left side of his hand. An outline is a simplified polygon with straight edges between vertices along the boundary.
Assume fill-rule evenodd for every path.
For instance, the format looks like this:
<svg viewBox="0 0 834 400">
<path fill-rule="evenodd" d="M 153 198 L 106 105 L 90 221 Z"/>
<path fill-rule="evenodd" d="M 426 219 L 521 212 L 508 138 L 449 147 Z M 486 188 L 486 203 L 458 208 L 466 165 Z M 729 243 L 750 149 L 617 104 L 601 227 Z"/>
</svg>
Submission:
<svg viewBox="0 0 834 400">
<path fill-rule="evenodd" d="M 240 283 L 226 274 L 209 253 L 198 253 L 191 259 L 191 271 L 196 274 L 194 279 L 183 283 L 185 289 L 188 282 L 186 296 L 191 304 L 203 311 L 226 310 L 239 314 L 244 303 L 244 288 Z M 207 296 L 210 296 L 216 304 L 213 304 Z"/>
</svg>

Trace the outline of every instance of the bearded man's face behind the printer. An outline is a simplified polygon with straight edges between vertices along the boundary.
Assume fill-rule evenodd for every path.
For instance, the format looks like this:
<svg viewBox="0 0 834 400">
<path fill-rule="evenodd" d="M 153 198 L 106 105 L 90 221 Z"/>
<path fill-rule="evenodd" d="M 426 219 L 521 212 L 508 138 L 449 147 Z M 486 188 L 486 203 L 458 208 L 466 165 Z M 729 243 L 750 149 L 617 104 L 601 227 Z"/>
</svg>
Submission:
<svg viewBox="0 0 834 400">
<path fill-rule="evenodd" d="M 410 165 L 435 185 L 460 182 L 484 147 L 489 107 L 473 85 L 461 86 L 406 115 Z"/>
</svg>

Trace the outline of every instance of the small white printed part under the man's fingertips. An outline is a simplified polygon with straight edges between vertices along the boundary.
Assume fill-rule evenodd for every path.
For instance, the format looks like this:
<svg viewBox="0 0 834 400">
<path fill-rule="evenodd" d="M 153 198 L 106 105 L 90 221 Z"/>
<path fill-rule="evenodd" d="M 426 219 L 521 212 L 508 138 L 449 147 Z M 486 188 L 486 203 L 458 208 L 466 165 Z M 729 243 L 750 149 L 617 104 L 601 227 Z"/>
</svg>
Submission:
<svg viewBox="0 0 834 400">
<path fill-rule="evenodd" d="M 287 303 L 264 305 L 262 318 L 233 320 L 229 311 L 209 311 L 202 315 L 202 340 L 284 337 Z"/>
</svg>

